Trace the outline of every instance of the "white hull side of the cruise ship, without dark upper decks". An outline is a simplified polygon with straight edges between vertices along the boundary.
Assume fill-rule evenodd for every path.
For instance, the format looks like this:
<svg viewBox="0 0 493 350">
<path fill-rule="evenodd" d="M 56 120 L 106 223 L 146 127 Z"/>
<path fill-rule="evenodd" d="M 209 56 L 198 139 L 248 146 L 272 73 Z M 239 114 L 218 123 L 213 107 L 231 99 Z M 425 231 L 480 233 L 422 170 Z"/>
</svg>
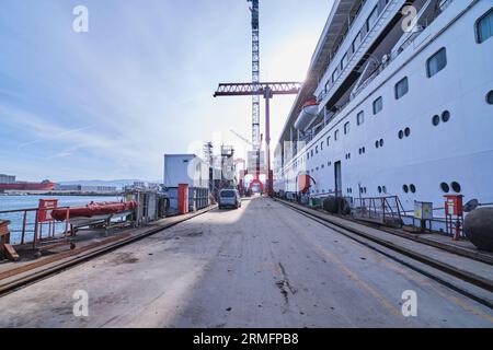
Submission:
<svg viewBox="0 0 493 350">
<path fill-rule="evenodd" d="M 367 1 L 360 16 L 366 19 L 375 3 Z M 345 106 L 335 116 L 325 114 L 312 136 L 303 139 L 288 121 L 276 150 L 275 190 L 296 191 L 297 174 L 308 172 L 316 182 L 312 197 L 334 192 L 354 198 L 399 196 L 410 211 L 414 201 L 443 208 L 445 195 L 493 202 L 493 105 L 488 102 L 493 90 L 493 38 L 480 44 L 475 31 L 492 3 L 447 3 L 402 50 L 393 55 L 387 50 L 377 74 L 351 85 L 347 98 L 341 100 Z M 349 30 L 345 40 L 349 45 L 352 34 Z M 428 61 L 443 48 L 446 67 L 428 77 Z M 322 115 L 324 107 L 333 107 L 331 90 L 325 88 L 330 67 L 314 92 L 320 94 Z M 403 79 L 408 89 L 402 84 L 398 92 Z M 337 84 L 343 82 L 332 83 L 332 91 L 337 91 Z M 382 108 L 374 114 L 378 97 Z M 375 107 L 379 109 L 378 102 Z M 364 120 L 358 120 L 362 112 Z M 285 143 L 303 140 L 306 144 Z"/>
</svg>

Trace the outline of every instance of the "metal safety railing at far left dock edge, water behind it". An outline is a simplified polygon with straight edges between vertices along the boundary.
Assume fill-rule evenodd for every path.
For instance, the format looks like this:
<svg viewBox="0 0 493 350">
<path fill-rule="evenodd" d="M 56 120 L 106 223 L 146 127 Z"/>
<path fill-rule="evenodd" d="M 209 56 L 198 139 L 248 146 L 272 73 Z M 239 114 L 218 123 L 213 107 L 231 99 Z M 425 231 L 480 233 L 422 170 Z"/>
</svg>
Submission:
<svg viewBox="0 0 493 350">
<path fill-rule="evenodd" d="M 64 222 L 53 219 L 43 219 L 46 213 L 55 209 L 67 210 L 67 218 Z M 11 222 L 9 244 L 26 245 L 32 244 L 36 249 L 39 244 L 54 241 L 62 233 L 64 242 L 68 243 L 69 235 L 73 232 L 70 226 L 70 207 L 46 207 L 0 211 L 0 219 L 4 218 Z M 47 226 L 47 230 L 45 230 Z M 12 234 L 20 234 L 20 240 L 14 241 Z"/>
</svg>

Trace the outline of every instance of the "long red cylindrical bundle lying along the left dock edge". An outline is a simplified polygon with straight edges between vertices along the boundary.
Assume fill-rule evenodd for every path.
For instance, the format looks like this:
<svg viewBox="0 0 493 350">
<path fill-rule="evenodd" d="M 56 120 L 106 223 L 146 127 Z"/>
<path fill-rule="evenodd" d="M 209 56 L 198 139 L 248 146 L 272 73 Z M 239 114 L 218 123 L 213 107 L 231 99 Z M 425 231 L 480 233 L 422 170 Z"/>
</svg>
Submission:
<svg viewBox="0 0 493 350">
<path fill-rule="evenodd" d="M 55 209 L 51 212 L 51 218 L 57 221 L 67 219 L 67 211 L 69 211 L 69 219 L 74 218 L 93 218 L 99 215 L 117 214 L 124 211 L 135 210 L 137 208 L 135 200 L 127 202 L 91 202 L 85 207 L 77 207 L 70 209 Z"/>
</svg>

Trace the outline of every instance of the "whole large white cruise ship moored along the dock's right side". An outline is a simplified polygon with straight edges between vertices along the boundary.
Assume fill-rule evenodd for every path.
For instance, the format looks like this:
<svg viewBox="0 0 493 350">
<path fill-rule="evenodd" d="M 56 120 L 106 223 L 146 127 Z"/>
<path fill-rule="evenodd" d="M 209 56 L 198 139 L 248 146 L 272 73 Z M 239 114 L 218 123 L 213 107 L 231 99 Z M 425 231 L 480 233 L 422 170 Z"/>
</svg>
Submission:
<svg viewBox="0 0 493 350">
<path fill-rule="evenodd" d="M 493 202 L 493 1 L 335 0 L 275 150 L 275 191 Z"/>
</svg>

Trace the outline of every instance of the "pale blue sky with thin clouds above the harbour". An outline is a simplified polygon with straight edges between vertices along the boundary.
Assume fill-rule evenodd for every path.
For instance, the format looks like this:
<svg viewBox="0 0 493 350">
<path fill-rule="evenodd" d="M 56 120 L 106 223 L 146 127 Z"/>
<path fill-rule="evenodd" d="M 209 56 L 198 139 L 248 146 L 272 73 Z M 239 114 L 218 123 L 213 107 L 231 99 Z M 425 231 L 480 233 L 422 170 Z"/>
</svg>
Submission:
<svg viewBox="0 0 493 350">
<path fill-rule="evenodd" d="M 262 80 L 305 79 L 331 4 L 261 1 Z M 251 79 L 246 1 L 1 0 L 0 48 L 0 173 L 158 179 L 164 153 L 214 140 L 243 156 L 229 130 L 251 138 L 250 98 L 211 97 Z M 273 140 L 293 101 L 274 100 Z"/>
</svg>

